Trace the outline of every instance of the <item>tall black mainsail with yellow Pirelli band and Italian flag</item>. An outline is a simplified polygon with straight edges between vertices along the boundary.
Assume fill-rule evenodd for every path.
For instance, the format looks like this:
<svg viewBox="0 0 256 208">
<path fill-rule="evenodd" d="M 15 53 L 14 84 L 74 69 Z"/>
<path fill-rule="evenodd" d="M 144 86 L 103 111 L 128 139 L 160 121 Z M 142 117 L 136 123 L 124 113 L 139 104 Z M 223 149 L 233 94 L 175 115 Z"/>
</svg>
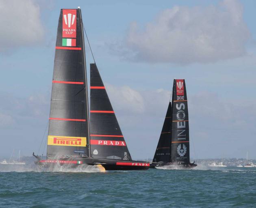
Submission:
<svg viewBox="0 0 256 208">
<path fill-rule="evenodd" d="M 47 158 L 89 156 L 88 98 L 80 9 L 61 9 L 54 58 Z"/>
</svg>

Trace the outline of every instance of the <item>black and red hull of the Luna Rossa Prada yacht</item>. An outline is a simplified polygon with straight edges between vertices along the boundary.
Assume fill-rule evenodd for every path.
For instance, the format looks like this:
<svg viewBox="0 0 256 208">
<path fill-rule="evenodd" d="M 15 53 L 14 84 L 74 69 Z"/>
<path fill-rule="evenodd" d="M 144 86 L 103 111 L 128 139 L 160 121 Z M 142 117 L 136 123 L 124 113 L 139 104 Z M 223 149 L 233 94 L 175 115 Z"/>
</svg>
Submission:
<svg viewBox="0 0 256 208">
<path fill-rule="evenodd" d="M 54 164 L 69 165 L 69 167 L 74 168 L 81 164 L 102 165 L 105 170 L 147 170 L 150 167 L 149 163 L 143 161 L 124 161 L 83 157 L 58 158 L 57 160 L 37 160 L 35 161 L 35 164 L 42 167 L 49 167 Z"/>
</svg>

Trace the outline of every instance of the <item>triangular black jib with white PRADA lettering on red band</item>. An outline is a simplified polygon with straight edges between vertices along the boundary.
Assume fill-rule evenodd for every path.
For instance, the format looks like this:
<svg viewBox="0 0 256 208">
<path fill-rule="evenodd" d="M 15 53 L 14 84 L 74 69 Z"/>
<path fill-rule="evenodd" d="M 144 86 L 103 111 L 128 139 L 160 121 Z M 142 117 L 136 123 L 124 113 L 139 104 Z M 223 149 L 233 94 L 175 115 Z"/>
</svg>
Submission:
<svg viewBox="0 0 256 208">
<path fill-rule="evenodd" d="M 132 160 L 96 64 L 90 65 L 92 158 Z"/>
</svg>

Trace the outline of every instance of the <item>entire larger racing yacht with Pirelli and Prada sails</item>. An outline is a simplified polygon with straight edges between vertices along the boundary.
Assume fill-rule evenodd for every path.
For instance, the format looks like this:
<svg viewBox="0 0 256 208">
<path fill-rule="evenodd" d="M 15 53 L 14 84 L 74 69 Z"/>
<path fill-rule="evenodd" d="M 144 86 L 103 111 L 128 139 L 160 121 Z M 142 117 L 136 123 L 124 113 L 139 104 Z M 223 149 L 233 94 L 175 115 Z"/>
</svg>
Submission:
<svg viewBox="0 0 256 208">
<path fill-rule="evenodd" d="M 132 160 L 95 63 L 89 111 L 81 10 L 61 9 L 55 47 L 46 160 L 38 165 L 100 165 L 106 170 L 148 169 Z M 90 113 L 90 116 L 89 116 Z"/>
</svg>

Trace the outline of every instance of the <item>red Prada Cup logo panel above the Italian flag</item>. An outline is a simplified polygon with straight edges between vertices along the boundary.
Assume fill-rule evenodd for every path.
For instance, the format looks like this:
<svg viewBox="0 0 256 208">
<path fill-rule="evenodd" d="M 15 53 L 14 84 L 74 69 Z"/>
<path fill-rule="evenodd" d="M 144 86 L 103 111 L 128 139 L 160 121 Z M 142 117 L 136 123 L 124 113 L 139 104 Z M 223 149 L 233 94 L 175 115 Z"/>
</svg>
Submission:
<svg viewBox="0 0 256 208">
<path fill-rule="evenodd" d="M 62 37 L 76 38 L 76 9 L 63 9 Z"/>
</svg>

